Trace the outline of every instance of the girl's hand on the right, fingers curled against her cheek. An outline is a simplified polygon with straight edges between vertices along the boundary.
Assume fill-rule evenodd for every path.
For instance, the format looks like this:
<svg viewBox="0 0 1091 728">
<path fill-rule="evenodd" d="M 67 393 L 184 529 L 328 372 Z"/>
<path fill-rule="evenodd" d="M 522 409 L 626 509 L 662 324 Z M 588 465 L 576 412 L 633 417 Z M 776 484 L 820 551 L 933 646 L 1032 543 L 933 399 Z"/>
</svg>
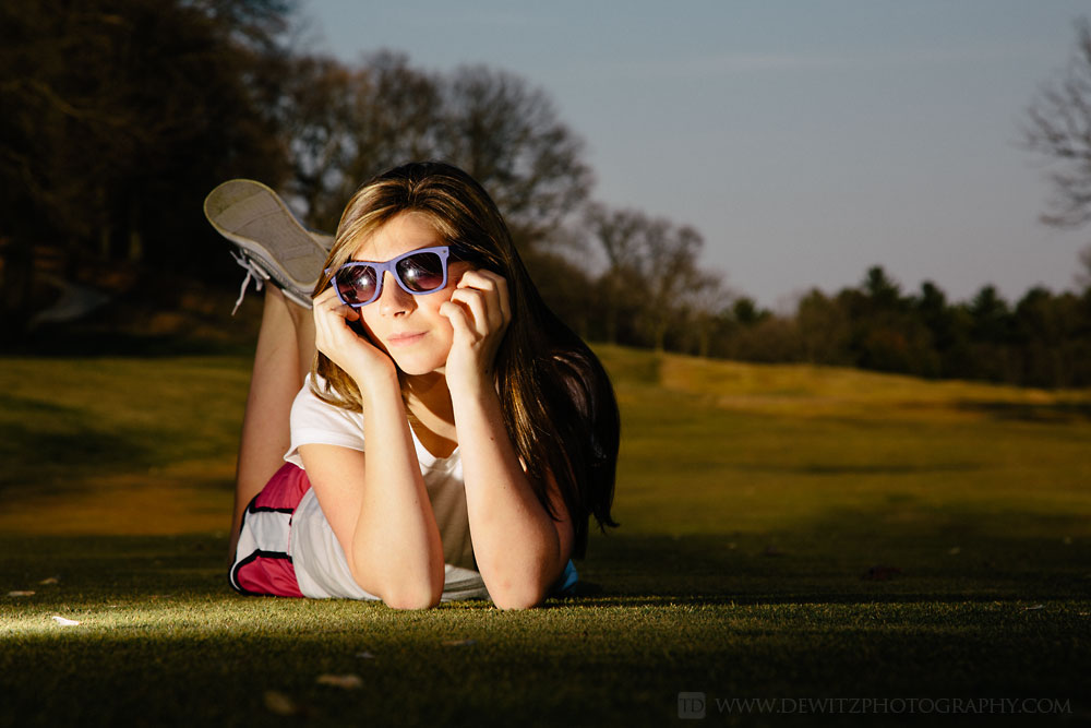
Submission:
<svg viewBox="0 0 1091 728">
<path fill-rule="evenodd" d="M 507 281 L 492 271 L 467 271 L 451 300 L 440 307 L 454 329 L 447 354 L 447 386 L 493 387 L 496 350 L 512 321 Z"/>
</svg>

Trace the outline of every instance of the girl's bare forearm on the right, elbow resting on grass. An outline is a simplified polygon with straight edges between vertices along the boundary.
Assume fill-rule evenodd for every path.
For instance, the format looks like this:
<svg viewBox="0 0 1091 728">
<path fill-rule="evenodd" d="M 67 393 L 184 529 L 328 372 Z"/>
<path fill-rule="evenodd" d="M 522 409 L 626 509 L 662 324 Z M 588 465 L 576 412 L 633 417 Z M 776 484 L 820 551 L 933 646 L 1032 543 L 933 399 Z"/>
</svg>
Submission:
<svg viewBox="0 0 1091 728">
<path fill-rule="evenodd" d="M 495 391 L 453 392 L 452 402 L 481 577 L 497 606 L 533 606 L 560 574 L 556 526 L 524 473 Z"/>
</svg>

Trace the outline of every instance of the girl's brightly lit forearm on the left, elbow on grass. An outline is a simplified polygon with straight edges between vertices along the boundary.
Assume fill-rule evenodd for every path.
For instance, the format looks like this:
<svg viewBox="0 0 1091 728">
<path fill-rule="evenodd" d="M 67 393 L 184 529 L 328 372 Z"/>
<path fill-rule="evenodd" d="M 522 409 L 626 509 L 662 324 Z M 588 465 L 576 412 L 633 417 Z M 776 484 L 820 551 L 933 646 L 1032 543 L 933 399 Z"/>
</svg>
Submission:
<svg viewBox="0 0 1091 728">
<path fill-rule="evenodd" d="M 391 606 L 435 604 L 443 590 L 443 544 L 396 386 L 368 393 L 364 441 L 353 575 Z"/>
</svg>

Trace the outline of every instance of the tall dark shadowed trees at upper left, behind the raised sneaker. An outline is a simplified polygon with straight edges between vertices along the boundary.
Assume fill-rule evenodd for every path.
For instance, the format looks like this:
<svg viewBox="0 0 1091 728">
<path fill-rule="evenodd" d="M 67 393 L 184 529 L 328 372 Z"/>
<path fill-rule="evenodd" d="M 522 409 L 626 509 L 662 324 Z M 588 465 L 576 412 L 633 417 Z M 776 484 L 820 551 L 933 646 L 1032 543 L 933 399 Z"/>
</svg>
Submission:
<svg viewBox="0 0 1091 728">
<path fill-rule="evenodd" d="M 240 172 L 286 171 L 262 99 L 286 12 L 277 0 L 0 4 L 9 334 L 29 313 L 36 248 L 185 264 L 211 243 L 204 192 Z"/>
</svg>

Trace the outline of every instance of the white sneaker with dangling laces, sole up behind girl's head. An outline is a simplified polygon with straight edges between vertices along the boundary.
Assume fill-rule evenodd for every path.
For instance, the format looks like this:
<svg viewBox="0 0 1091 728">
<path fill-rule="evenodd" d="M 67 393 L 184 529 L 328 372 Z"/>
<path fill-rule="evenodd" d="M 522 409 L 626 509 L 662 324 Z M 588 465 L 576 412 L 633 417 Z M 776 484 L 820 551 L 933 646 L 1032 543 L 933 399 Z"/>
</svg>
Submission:
<svg viewBox="0 0 1091 728">
<path fill-rule="evenodd" d="M 252 179 L 232 179 L 218 186 L 204 203 L 205 217 L 238 246 L 239 264 L 247 268 L 236 309 L 253 277 L 257 289 L 272 281 L 285 296 L 311 308 L 311 294 L 333 247 L 333 236 L 308 230 L 276 192 Z"/>
</svg>

